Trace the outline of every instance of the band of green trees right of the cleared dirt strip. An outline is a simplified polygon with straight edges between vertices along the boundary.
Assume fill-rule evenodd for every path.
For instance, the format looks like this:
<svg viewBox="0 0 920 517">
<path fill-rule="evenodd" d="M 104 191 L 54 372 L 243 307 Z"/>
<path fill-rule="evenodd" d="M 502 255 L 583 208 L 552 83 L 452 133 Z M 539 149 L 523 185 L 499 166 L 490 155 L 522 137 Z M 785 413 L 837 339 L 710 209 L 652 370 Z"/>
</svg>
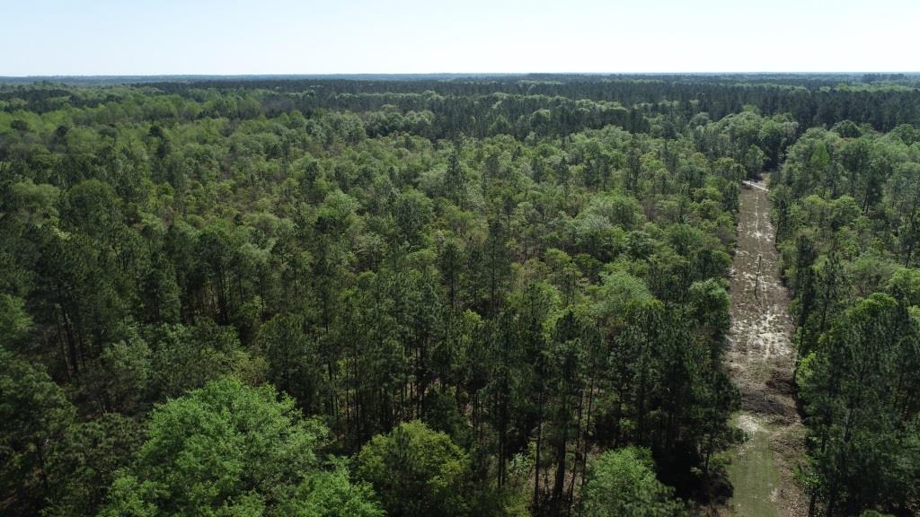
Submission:
<svg viewBox="0 0 920 517">
<path fill-rule="evenodd" d="M 914 172 L 899 135 L 810 130 L 773 179 L 795 287 L 796 381 L 811 429 L 811 504 L 897 513 L 918 497 Z"/>
</svg>

